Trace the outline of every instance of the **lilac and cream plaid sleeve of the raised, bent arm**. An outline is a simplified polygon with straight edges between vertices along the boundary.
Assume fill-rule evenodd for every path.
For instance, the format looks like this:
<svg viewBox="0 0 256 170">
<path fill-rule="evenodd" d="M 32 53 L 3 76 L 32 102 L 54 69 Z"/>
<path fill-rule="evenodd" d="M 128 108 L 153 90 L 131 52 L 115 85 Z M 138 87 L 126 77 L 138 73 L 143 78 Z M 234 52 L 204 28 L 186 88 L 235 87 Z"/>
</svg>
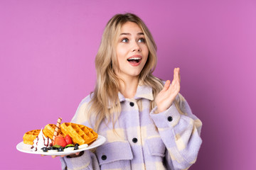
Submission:
<svg viewBox="0 0 256 170">
<path fill-rule="evenodd" d="M 154 113 L 156 109 L 150 115 L 166 146 L 167 163 L 173 169 L 188 169 L 196 162 L 201 147 L 201 120 L 192 114 L 181 94 L 166 111 Z"/>
</svg>

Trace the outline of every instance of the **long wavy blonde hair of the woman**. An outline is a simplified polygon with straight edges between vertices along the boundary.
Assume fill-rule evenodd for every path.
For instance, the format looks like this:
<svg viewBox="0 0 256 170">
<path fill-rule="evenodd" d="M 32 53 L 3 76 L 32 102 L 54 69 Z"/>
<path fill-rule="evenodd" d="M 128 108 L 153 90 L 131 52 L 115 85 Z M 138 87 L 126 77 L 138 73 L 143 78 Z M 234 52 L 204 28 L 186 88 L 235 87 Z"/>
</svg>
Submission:
<svg viewBox="0 0 256 170">
<path fill-rule="evenodd" d="M 146 39 L 146 45 L 149 49 L 148 59 L 142 72 L 139 74 L 139 82 L 151 86 L 154 96 L 156 96 L 156 94 L 163 88 L 162 81 L 152 75 L 157 62 L 156 43 L 154 42 L 149 29 L 138 16 L 132 13 L 117 14 L 113 16 L 105 27 L 102 41 L 95 58 L 97 84 L 95 90 L 91 94 L 91 101 L 87 111 L 88 120 L 94 120 L 93 122 L 95 122 L 93 128 L 96 132 L 100 123 L 104 120 L 107 120 L 106 123 L 112 121 L 114 128 L 114 123 L 121 112 L 121 105 L 118 98 L 119 79 L 114 73 L 114 69 L 118 69 L 115 50 L 121 27 L 127 22 L 137 23 L 142 29 Z M 150 109 L 153 107 L 154 102 L 151 102 Z M 91 125 L 92 121 L 90 122 Z"/>
</svg>

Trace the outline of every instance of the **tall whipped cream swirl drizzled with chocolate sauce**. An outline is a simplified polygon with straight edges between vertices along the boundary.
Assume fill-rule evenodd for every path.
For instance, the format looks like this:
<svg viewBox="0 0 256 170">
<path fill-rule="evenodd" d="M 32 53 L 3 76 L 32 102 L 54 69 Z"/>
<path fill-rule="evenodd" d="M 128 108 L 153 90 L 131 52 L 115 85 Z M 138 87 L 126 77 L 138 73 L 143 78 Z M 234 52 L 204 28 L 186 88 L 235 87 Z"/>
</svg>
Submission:
<svg viewBox="0 0 256 170">
<path fill-rule="evenodd" d="M 53 146 L 52 141 L 50 140 L 49 137 L 46 137 L 43 135 L 43 128 L 39 132 L 39 135 L 36 137 L 35 140 L 33 140 L 33 146 L 31 147 L 32 151 L 36 152 L 43 152 L 43 147 L 51 147 Z"/>
</svg>

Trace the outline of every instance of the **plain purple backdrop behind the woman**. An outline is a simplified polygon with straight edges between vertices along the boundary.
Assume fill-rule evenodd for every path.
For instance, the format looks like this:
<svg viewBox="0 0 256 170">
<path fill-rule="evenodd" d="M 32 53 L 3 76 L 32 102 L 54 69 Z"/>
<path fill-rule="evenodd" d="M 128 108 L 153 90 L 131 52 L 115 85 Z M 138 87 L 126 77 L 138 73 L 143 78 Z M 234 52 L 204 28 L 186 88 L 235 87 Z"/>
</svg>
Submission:
<svg viewBox="0 0 256 170">
<path fill-rule="evenodd" d="M 255 0 L 1 0 L 0 169 L 60 169 L 16 145 L 28 130 L 70 121 L 95 85 L 105 24 L 124 12 L 156 40 L 154 75 L 172 79 L 181 68 L 181 94 L 203 122 L 191 169 L 255 169 Z"/>
</svg>

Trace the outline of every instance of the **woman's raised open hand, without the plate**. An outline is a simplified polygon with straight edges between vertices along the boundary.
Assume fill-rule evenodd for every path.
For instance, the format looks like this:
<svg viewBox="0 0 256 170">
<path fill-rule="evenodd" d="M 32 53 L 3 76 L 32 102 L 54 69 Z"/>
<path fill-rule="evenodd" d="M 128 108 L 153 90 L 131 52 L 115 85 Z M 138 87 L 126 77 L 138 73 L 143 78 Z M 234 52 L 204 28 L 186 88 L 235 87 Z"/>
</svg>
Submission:
<svg viewBox="0 0 256 170">
<path fill-rule="evenodd" d="M 169 108 L 172 103 L 174 103 L 174 100 L 178 95 L 178 92 L 180 91 L 180 89 L 181 89 L 180 69 L 175 68 L 173 81 L 167 80 L 166 83 L 164 84 L 164 89 L 162 89 L 159 92 L 159 94 L 156 96 L 156 100 L 155 100 L 156 106 L 157 106 L 156 113 L 166 111 L 166 109 Z"/>
</svg>

